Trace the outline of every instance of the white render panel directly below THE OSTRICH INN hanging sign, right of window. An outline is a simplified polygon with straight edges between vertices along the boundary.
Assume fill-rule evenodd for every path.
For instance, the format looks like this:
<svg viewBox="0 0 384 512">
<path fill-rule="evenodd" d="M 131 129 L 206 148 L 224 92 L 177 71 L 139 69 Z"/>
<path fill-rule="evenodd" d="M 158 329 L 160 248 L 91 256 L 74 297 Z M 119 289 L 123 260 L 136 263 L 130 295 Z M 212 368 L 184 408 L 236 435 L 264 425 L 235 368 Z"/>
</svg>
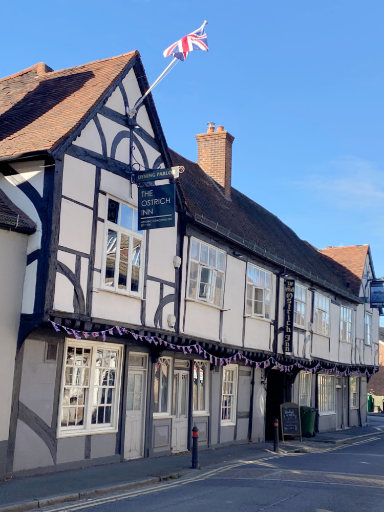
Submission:
<svg viewBox="0 0 384 512">
<path fill-rule="evenodd" d="M 175 283 L 174 257 L 177 243 L 177 214 L 175 227 L 150 230 L 148 275 Z"/>
</svg>

